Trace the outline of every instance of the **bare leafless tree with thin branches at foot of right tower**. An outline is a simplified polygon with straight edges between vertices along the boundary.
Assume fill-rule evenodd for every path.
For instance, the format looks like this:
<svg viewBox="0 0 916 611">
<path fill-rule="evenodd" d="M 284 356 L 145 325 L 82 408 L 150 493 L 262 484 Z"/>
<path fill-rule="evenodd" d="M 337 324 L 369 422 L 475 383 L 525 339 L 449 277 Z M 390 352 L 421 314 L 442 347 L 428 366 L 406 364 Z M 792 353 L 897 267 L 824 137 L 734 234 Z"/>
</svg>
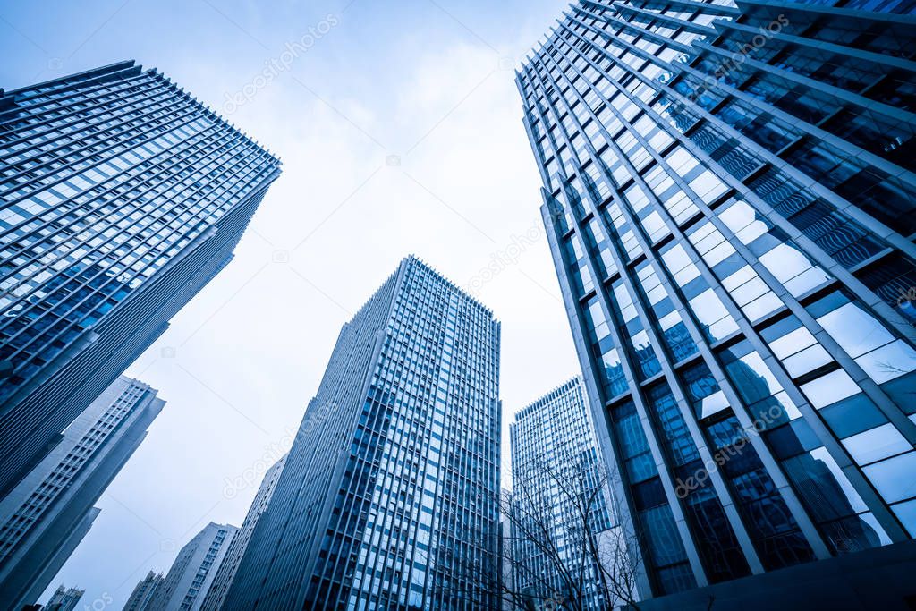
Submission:
<svg viewBox="0 0 916 611">
<path fill-rule="evenodd" d="M 640 546 L 616 519 L 612 477 L 594 460 L 571 459 L 529 464 L 513 481 L 498 499 L 501 540 L 490 542 L 499 566 L 458 557 L 460 546 L 440 549 L 440 562 L 461 573 L 453 595 L 463 583 L 483 588 L 504 609 L 584 611 L 591 597 L 606 609 L 638 611 Z"/>
</svg>

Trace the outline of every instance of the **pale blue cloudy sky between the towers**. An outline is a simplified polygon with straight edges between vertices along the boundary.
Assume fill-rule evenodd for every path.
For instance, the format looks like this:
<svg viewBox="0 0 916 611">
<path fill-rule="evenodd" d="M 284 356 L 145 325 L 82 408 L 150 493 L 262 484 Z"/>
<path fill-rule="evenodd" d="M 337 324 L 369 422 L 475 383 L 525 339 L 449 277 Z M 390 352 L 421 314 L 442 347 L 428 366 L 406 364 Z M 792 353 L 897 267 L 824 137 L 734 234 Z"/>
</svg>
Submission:
<svg viewBox="0 0 916 611">
<path fill-rule="evenodd" d="M 240 525 L 341 325 L 411 253 L 502 322 L 507 481 L 512 413 L 579 368 L 514 82 L 565 5 L 0 0 L 0 87 L 134 59 L 283 162 L 234 261 L 127 370 L 167 404 L 42 600 L 120 608 L 208 522 Z"/>
</svg>

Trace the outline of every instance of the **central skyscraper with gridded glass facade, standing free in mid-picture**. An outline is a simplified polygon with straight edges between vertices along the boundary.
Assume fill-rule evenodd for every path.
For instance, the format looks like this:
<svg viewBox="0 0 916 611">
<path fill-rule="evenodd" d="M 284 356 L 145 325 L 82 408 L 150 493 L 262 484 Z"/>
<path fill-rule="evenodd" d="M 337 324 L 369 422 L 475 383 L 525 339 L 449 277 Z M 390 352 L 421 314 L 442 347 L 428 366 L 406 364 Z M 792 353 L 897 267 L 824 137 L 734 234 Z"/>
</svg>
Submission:
<svg viewBox="0 0 916 611">
<path fill-rule="evenodd" d="M 499 323 L 409 256 L 344 324 L 226 609 L 495 608 Z"/>
</svg>

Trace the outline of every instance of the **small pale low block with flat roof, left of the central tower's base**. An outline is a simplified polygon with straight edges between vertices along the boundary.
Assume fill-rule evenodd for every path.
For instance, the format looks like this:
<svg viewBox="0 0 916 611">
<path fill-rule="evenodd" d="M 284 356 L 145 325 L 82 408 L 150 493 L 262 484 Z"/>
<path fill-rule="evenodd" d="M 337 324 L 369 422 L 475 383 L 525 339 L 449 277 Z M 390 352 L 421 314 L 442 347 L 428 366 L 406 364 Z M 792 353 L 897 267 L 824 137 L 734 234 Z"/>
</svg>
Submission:
<svg viewBox="0 0 916 611">
<path fill-rule="evenodd" d="M 144 608 L 147 611 L 198 611 L 236 530 L 229 524 L 211 522 L 205 526 L 178 552 L 169 573 L 156 586 Z"/>
</svg>

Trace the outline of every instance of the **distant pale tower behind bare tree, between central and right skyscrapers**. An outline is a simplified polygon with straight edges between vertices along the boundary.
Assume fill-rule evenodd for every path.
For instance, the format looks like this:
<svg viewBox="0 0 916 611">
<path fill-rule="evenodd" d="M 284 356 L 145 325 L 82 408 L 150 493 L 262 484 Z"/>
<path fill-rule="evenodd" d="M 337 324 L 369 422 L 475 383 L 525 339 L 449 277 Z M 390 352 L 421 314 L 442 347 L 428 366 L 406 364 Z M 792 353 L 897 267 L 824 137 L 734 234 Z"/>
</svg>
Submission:
<svg viewBox="0 0 916 611">
<path fill-rule="evenodd" d="M 602 554 L 580 544 L 614 527 L 605 462 L 582 379 L 573 377 L 516 412 L 510 435 L 510 597 L 516 602 L 524 597 L 535 608 L 566 596 L 583 611 L 613 606 L 613 593 L 599 587 Z M 540 532 L 550 533 L 548 544 Z"/>
</svg>

